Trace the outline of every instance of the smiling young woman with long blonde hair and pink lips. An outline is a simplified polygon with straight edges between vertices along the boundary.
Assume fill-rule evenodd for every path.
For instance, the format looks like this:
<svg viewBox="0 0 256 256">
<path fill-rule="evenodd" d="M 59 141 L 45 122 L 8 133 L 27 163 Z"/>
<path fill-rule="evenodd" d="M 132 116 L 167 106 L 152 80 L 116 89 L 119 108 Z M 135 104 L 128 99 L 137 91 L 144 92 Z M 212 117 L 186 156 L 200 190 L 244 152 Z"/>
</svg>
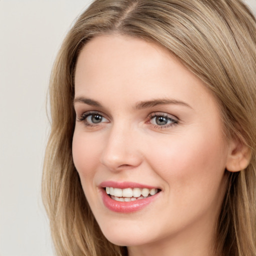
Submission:
<svg viewBox="0 0 256 256">
<path fill-rule="evenodd" d="M 96 0 L 50 81 L 58 255 L 255 255 L 256 22 L 240 0 Z"/>
</svg>

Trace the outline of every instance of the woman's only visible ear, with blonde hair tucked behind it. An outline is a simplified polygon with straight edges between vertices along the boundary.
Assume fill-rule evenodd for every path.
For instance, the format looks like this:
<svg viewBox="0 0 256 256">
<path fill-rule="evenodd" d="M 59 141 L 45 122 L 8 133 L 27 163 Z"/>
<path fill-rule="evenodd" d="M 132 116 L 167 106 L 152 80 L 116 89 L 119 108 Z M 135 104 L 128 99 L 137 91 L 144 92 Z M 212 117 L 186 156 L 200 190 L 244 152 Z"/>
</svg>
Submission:
<svg viewBox="0 0 256 256">
<path fill-rule="evenodd" d="M 245 169 L 249 164 L 250 156 L 250 148 L 241 139 L 232 139 L 228 146 L 226 169 L 232 172 Z"/>
</svg>

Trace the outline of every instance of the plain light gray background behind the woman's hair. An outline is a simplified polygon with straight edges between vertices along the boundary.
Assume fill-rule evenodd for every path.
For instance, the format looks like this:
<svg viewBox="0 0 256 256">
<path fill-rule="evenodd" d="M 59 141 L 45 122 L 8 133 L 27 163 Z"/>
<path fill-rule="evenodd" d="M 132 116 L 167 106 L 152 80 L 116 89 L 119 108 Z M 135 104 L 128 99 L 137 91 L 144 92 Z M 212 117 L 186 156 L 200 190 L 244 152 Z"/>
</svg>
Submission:
<svg viewBox="0 0 256 256">
<path fill-rule="evenodd" d="M 51 256 L 40 197 L 50 69 L 91 0 L 0 0 L 0 256 Z M 247 0 L 256 13 L 256 0 Z"/>
</svg>

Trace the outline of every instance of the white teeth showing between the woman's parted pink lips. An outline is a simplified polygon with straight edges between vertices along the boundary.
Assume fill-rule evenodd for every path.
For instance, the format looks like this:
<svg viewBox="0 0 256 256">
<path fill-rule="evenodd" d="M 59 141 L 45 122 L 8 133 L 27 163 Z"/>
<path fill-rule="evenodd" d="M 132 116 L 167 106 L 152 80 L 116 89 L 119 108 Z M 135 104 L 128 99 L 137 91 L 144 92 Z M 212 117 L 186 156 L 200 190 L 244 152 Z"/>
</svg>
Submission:
<svg viewBox="0 0 256 256">
<path fill-rule="evenodd" d="M 111 199 L 116 201 L 135 201 L 139 199 L 144 199 L 150 197 L 160 191 L 157 188 L 117 188 L 117 187 L 104 187 L 106 193 Z"/>
</svg>

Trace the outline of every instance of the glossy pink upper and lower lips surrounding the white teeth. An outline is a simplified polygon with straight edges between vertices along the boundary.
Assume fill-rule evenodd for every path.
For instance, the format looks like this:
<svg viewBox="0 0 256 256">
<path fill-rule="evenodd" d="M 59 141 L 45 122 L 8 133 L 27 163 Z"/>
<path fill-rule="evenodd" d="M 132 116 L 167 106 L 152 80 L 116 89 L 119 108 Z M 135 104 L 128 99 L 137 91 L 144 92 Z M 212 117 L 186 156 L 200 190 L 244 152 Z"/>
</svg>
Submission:
<svg viewBox="0 0 256 256">
<path fill-rule="evenodd" d="M 138 211 L 142 208 L 144 208 L 146 205 L 154 201 L 154 199 L 157 198 L 158 193 L 151 195 L 149 197 L 143 198 L 143 199 L 137 199 L 134 201 L 128 201 L 128 202 L 120 202 L 111 199 L 111 197 L 106 193 L 103 187 L 109 186 L 109 187 L 117 187 L 117 188 L 133 188 L 133 187 L 138 187 L 138 188 L 155 188 L 152 186 L 148 185 L 142 185 L 139 183 L 134 183 L 134 182 L 115 182 L 115 181 L 104 181 L 100 183 L 100 192 L 101 192 L 101 198 L 104 203 L 104 205 L 115 212 L 123 212 L 123 213 L 130 213 L 134 211 Z"/>
</svg>

